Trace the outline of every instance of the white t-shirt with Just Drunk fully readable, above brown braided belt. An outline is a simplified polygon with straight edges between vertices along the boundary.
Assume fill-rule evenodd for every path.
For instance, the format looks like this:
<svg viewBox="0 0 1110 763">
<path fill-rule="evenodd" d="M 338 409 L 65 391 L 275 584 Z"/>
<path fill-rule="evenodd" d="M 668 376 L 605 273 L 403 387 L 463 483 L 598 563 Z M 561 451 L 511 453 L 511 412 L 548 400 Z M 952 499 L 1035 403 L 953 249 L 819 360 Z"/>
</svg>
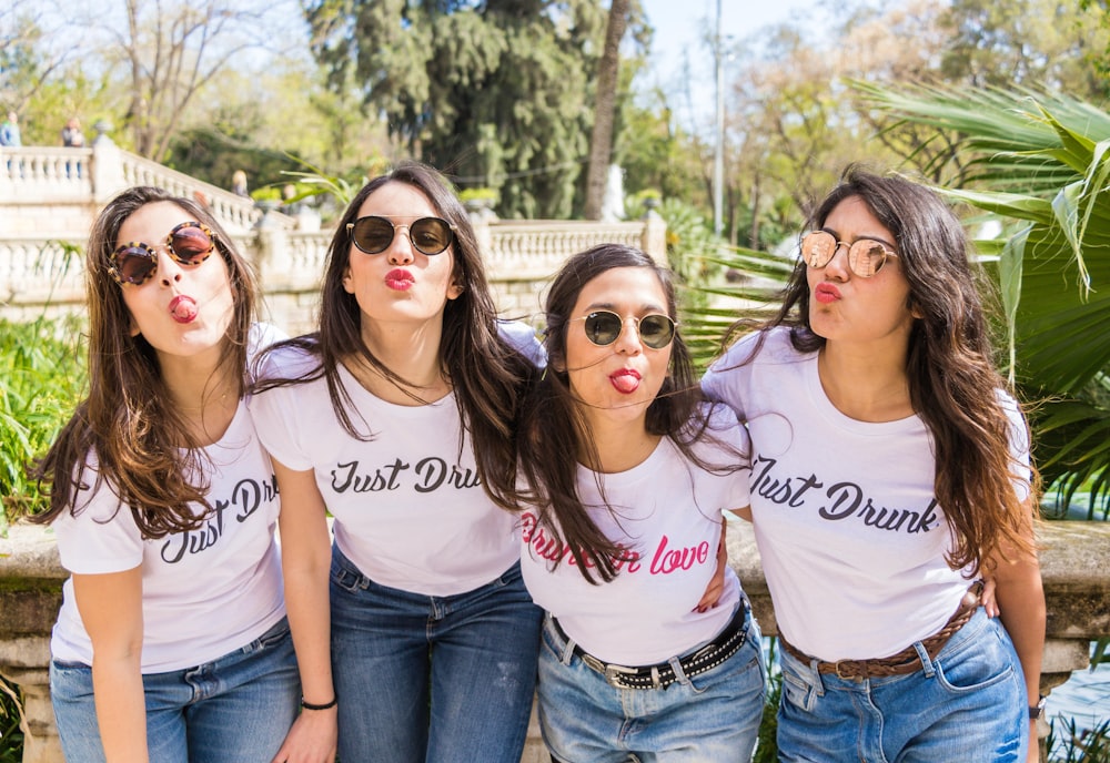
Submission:
<svg viewBox="0 0 1110 763">
<path fill-rule="evenodd" d="M 916 415 L 868 423 L 825 395 L 817 353 L 789 329 L 744 337 L 703 385 L 747 423 L 751 511 L 775 617 L 786 639 L 821 660 L 882 658 L 940 628 L 969 581 L 949 569 L 951 536 L 934 496 L 931 437 Z M 743 365 L 740 365 L 743 364 Z M 1013 454 L 1028 465 L 1021 415 Z"/>
</svg>

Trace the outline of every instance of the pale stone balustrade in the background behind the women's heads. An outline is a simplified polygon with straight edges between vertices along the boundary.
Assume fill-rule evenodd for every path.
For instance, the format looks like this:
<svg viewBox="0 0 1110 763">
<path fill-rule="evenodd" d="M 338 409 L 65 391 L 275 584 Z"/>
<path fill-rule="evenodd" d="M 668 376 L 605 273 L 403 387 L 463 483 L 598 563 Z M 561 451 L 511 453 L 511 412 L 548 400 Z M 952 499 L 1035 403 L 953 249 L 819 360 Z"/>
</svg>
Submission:
<svg viewBox="0 0 1110 763">
<path fill-rule="evenodd" d="M 98 210 L 132 185 L 203 201 L 255 265 L 268 319 L 290 334 L 314 327 L 334 231 L 299 228 L 294 217 L 123 151 L 104 134 L 85 149 L 0 147 L 0 317 L 81 311 L 89 228 Z M 595 244 L 637 246 L 666 262 L 666 225 L 654 213 L 619 223 L 498 221 L 483 212 L 472 220 L 505 317 L 531 319 L 547 278 L 569 255 Z"/>
</svg>

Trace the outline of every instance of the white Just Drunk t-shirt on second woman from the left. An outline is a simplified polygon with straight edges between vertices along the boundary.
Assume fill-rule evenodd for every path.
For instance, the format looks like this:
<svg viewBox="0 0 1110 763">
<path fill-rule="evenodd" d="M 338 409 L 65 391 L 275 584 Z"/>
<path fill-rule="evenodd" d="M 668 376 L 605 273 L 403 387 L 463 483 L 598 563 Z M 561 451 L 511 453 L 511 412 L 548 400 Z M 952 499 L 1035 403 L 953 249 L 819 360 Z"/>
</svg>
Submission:
<svg viewBox="0 0 1110 763">
<path fill-rule="evenodd" d="M 268 358 L 268 375 L 297 378 L 317 363 L 286 348 Z M 314 470 L 340 550 L 375 582 L 426 596 L 471 591 L 516 562 L 515 518 L 482 488 L 454 394 L 402 406 L 369 393 L 342 365 L 340 379 L 347 415 L 373 439 L 347 434 L 323 378 L 251 400 L 273 457 Z"/>
</svg>

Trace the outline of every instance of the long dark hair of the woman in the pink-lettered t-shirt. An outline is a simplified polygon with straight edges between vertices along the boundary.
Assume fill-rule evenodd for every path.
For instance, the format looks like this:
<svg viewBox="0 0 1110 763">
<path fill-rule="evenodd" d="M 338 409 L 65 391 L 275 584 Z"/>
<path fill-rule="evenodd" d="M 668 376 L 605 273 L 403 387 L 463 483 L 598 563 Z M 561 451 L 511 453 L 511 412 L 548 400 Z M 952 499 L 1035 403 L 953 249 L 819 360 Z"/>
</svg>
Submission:
<svg viewBox="0 0 1110 763">
<path fill-rule="evenodd" d="M 572 315 L 582 289 L 594 278 L 616 267 L 649 269 L 666 295 L 667 314 L 677 318 L 674 277 L 639 250 L 619 244 L 602 244 L 572 256 L 555 275 L 545 304 L 548 367 L 533 385 L 521 409 L 517 433 L 519 451 L 518 489 L 506 505 L 531 508 L 538 515 L 545 532 L 569 550 L 578 570 L 596 583 L 591 568 L 602 581 L 613 580 L 616 561 L 627 551 L 607 538 L 589 517 L 577 490 L 578 458 L 598 461 L 597 450 L 582 405 L 569 387 L 566 370 L 566 340 Z M 652 435 L 670 438 L 679 451 L 697 468 L 714 472 L 736 471 L 744 456 L 726 450 L 727 464 L 708 464 L 693 446 L 718 440 L 708 424 L 697 373 L 689 349 L 680 334 L 670 348 L 667 377 L 647 408 L 646 429 Z M 722 447 L 725 447 L 722 444 Z M 598 480 L 598 488 L 604 489 Z M 612 507 L 610 507 L 612 510 Z M 558 564 L 562 557 L 553 563 Z"/>
</svg>

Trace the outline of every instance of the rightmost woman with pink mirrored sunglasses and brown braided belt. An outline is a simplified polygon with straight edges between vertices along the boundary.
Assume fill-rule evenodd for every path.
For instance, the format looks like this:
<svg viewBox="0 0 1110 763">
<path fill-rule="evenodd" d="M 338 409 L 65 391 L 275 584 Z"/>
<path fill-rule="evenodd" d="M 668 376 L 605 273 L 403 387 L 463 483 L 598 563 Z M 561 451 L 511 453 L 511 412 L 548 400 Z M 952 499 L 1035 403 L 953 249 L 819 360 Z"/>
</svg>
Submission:
<svg viewBox="0 0 1110 763">
<path fill-rule="evenodd" d="M 977 281 L 936 193 L 852 167 L 778 314 L 704 379 L 751 437 L 779 760 L 1037 760 L 1036 475 Z"/>
</svg>

